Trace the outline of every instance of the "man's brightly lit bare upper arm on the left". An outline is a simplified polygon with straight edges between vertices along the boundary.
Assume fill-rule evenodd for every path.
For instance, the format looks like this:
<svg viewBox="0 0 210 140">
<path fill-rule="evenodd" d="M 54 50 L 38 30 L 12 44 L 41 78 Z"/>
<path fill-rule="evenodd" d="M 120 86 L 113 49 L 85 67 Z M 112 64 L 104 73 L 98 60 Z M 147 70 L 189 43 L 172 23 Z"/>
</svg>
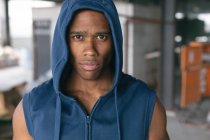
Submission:
<svg viewBox="0 0 210 140">
<path fill-rule="evenodd" d="M 30 136 L 23 112 L 22 101 L 18 104 L 13 114 L 13 140 L 32 140 Z"/>
</svg>

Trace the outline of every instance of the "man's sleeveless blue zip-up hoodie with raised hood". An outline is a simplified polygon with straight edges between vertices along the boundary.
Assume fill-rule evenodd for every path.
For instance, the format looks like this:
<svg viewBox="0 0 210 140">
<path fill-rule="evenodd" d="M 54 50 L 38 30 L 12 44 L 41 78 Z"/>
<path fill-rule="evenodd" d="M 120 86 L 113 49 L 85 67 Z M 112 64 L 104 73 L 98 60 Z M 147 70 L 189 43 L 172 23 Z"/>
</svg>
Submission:
<svg viewBox="0 0 210 140">
<path fill-rule="evenodd" d="M 66 40 L 76 11 L 104 13 L 114 43 L 114 84 L 88 115 L 62 92 L 62 77 L 71 69 Z M 65 0 L 52 44 L 53 78 L 23 98 L 26 125 L 34 140 L 146 140 L 156 101 L 145 83 L 122 72 L 122 31 L 112 0 Z"/>
</svg>

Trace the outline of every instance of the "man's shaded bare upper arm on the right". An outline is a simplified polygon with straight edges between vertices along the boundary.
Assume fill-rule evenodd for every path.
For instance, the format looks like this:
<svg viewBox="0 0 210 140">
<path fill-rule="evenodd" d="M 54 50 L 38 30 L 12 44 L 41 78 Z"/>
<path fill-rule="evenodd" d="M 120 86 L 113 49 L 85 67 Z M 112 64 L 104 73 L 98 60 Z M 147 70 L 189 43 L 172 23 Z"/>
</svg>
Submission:
<svg viewBox="0 0 210 140">
<path fill-rule="evenodd" d="M 149 140 L 169 140 L 166 126 L 166 112 L 160 100 L 157 98 L 149 129 Z"/>
</svg>

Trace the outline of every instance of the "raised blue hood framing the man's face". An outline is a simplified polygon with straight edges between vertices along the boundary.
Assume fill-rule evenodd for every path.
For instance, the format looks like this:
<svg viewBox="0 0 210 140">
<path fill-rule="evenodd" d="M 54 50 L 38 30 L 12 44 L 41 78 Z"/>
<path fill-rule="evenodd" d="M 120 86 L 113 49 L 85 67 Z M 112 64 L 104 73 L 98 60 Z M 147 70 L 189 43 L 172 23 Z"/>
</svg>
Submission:
<svg viewBox="0 0 210 140">
<path fill-rule="evenodd" d="M 116 7 L 112 0 L 64 0 L 57 20 L 52 43 L 52 74 L 56 92 L 61 89 L 61 77 L 69 63 L 69 49 L 66 39 L 68 25 L 74 14 L 81 9 L 90 9 L 104 13 L 112 31 L 114 46 L 114 85 L 118 84 L 122 73 L 122 30 Z"/>
</svg>

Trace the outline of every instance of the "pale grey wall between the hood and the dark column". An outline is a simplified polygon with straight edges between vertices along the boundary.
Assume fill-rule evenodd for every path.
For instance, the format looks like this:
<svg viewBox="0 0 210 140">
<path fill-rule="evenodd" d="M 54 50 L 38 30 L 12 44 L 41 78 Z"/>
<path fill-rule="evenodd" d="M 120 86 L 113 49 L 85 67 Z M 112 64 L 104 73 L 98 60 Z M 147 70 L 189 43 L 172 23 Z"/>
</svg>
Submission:
<svg viewBox="0 0 210 140">
<path fill-rule="evenodd" d="M 124 65 L 123 70 L 146 82 L 154 82 L 153 80 L 157 80 L 157 74 L 154 71 L 158 71 L 159 60 L 155 58 L 154 62 L 154 60 L 146 60 L 145 57 L 147 53 L 160 50 L 160 23 L 156 22 L 160 20 L 160 8 L 125 2 L 116 2 L 116 7 L 124 34 L 124 64 L 126 61 L 127 64 Z M 129 22 L 126 34 L 125 26 L 128 18 L 135 18 L 137 21 Z M 128 36 L 127 39 L 126 36 Z M 127 52 L 125 47 L 128 47 Z"/>
</svg>

